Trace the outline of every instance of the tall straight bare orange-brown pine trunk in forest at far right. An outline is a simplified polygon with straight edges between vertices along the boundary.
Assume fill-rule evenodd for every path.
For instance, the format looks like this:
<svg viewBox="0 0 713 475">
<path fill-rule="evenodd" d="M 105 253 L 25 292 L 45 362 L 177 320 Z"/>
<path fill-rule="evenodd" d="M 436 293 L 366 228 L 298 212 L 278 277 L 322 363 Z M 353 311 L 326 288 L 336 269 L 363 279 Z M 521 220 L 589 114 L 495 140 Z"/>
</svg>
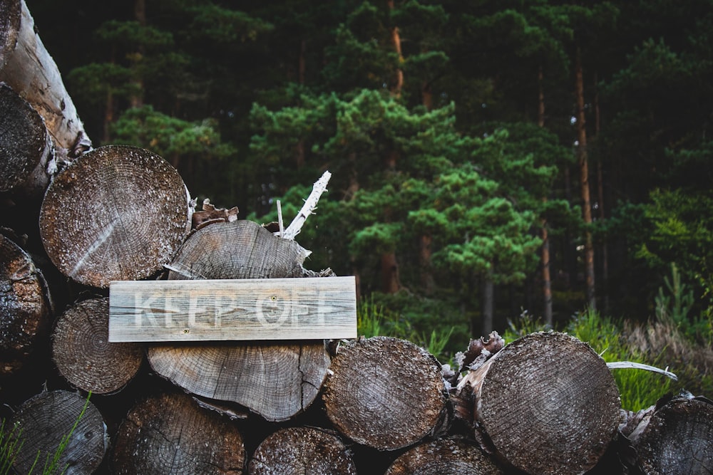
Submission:
<svg viewBox="0 0 713 475">
<path fill-rule="evenodd" d="M 585 285 L 587 288 L 587 306 L 597 310 L 597 299 L 594 283 L 594 243 L 592 241 L 592 203 L 589 192 L 589 158 L 587 152 L 587 128 L 584 110 L 584 79 L 582 74 L 582 51 L 577 48 L 575 63 L 576 96 L 577 96 L 577 159 L 580 167 L 580 187 L 582 188 L 582 216 L 585 224 L 584 265 Z"/>
</svg>

